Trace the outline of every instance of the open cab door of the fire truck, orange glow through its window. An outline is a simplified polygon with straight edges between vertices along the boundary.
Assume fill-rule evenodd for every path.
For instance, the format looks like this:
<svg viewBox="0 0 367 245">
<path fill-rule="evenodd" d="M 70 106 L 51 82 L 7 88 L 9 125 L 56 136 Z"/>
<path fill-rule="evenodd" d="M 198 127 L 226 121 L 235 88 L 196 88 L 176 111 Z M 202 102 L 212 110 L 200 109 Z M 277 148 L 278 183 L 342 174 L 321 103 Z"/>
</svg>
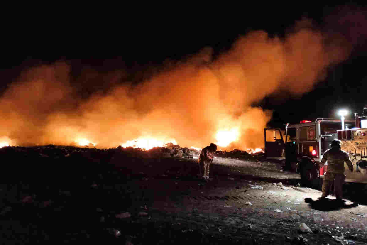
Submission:
<svg viewBox="0 0 367 245">
<path fill-rule="evenodd" d="M 266 158 L 284 158 L 285 144 L 279 128 L 264 129 Z"/>
</svg>

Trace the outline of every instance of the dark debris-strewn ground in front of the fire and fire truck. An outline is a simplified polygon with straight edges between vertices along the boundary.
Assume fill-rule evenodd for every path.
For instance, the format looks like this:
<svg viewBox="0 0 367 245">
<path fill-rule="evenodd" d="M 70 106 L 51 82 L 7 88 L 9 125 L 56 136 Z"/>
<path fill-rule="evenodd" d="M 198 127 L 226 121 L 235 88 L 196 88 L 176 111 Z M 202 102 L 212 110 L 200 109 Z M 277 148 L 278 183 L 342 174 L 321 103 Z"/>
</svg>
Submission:
<svg viewBox="0 0 367 245">
<path fill-rule="evenodd" d="M 212 181 L 196 151 L 0 149 L 3 244 L 366 244 L 364 185 L 345 203 L 300 186 L 282 162 L 217 155 Z M 281 183 L 280 183 L 281 182 Z M 311 233 L 301 233 L 305 223 Z"/>
</svg>

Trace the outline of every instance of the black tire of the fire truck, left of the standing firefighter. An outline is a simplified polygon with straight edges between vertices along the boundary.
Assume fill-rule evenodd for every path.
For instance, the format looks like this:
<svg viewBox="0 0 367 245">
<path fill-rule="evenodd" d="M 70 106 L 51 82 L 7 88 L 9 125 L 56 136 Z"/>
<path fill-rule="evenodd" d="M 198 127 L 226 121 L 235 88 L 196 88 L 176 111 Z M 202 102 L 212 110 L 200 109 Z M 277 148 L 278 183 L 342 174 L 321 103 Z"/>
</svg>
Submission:
<svg viewBox="0 0 367 245">
<path fill-rule="evenodd" d="M 313 164 L 313 162 L 303 159 L 301 161 L 301 181 L 305 187 L 320 188 L 320 173 L 319 169 Z"/>
</svg>

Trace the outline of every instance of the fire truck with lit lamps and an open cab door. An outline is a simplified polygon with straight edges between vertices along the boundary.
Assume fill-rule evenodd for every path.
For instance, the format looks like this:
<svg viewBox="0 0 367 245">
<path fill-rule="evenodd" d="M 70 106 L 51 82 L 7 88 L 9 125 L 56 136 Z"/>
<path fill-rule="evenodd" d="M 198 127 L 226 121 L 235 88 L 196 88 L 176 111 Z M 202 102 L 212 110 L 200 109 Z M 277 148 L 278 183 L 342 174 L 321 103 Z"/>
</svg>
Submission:
<svg viewBox="0 0 367 245">
<path fill-rule="evenodd" d="M 344 128 L 343 128 L 344 127 Z M 283 138 L 284 136 L 284 138 Z M 286 160 L 291 171 L 301 175 L 304 186 L 319 188 L 327 171 L 327 162 L 320 167 L 324 152 L 331 141 L 342 141 L 353 163 L 353 172 L 345 165 L 346 182 L 367 183 L 367 108 L 354 120 L 317 118 L 280 128 L 265 128 L 265 157 Z"/>
</svg>

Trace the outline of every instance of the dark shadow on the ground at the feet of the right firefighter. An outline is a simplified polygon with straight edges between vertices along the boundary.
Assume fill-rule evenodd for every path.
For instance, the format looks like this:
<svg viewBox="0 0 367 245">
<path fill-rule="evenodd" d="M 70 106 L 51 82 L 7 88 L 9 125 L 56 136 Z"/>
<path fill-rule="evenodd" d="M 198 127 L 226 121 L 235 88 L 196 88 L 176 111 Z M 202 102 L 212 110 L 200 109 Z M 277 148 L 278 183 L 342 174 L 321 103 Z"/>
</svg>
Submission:
<svg viewBox="0 0 367 245">
<path fill-rule="evenodd" d="M 358 206 L 357 203 L 345 204 L 345 201 L 343 200 L 329 198 L 322 198 L 316 201 L 312 198 L 305 198 L 305 202 L 309 203 L 310 208 L 319 211 L 334 211 L 344 208 L 355 208 L 356 206 Z"/>
</svg>

